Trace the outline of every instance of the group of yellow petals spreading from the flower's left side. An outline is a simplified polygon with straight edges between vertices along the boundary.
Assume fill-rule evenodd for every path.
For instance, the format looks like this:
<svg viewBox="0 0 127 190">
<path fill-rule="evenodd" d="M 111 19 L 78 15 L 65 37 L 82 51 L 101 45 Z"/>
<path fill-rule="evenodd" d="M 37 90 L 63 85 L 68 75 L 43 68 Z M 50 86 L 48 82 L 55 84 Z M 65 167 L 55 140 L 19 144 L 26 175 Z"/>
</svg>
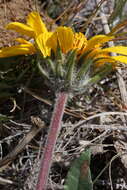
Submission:
<svg viewBox="0 0 127 190">
<path fill-rule="evenodd" d="M 18 42 L 20 42 L 21 44 L 18 46 L 2 48 L 0 50 L 0 57 L 33 54 L 36 51 L 36 47 L 34 47 L 35 43 L 37 44 L 44 57 L 50 55 L 50 48 L 46 46 L 46 41 L 48 37 L 51 36 L 51 32 L 48 32 L 38 12 L 31 12 L 27 17 L 26 24 L 12 22 L 7 25 L 7 29 L 12 29 L 23 35 L 27 35 L 30 38 L 34 38 L 35 41 L 32 44 L 23 39 L 18 39 Z"/>
</svg>

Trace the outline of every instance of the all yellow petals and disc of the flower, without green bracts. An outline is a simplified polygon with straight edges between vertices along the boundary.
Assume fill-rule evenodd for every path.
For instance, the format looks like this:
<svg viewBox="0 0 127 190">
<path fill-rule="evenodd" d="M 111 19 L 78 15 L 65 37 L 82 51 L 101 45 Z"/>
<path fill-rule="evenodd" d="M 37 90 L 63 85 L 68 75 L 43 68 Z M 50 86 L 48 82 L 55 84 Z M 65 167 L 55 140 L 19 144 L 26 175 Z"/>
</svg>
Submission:
<svg viewBox="0 0 127 190">
<path fill-rule="evenodd" d="M 75 50 L 78 57 L 86 54 L 84 59 L 93 59 L 98 65 L 103 65 L 106 62 L 127 63 L 127 47 L 103 47 L 107 42 L 113 40 L 115 36 L 96 35 L 87 40 L 83 33 L 75 33 L 70 27 L 65 26 L 57 27 L 54 32 L 48 32 L 38 12 L 31 12 L 27 17 L 26 24 L 12 22 L 8 24 L 7 29 L 13 29 L 34 38 L 34 44 L 36 45 L 34 46 L 34 44 L 24 39 L 18 39 L 20 45 L 2 48 L 0 57 L 33 54 L 37 50 L 42 53 L 43 57 L 47 57 L 51 55 L 51 50 L 56 52 L 57 48 L 60 47 L 64 54 L 71 50 Z M 111 56 L 111 52 L 120 55 Z"/>
</svg>

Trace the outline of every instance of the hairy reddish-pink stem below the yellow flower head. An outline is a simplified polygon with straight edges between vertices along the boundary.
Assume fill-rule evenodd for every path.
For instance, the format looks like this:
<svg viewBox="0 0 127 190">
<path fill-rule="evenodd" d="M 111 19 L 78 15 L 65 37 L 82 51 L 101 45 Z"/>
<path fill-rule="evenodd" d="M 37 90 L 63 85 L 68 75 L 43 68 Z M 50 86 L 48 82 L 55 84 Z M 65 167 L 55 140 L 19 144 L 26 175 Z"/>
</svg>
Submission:
<svg viewBox="0 0 127 190">
<path fill-rule="evenodd" d="M 41 159 L 40 173 L 38 177 L 36 190 L 46 190 L 48 174 L 49 174 L 49 170 L 52 163 L 52 156 L 53 156 L 57 136 L 61 128 L 61 120 L 63 117 L 67 98 L 68 98 L 68 94 L 65 92 L 60 92 L 57 96 L 51 124 L 49 127 L 48 137 L 45 144 L 44 153 Z"/>
</svg>

